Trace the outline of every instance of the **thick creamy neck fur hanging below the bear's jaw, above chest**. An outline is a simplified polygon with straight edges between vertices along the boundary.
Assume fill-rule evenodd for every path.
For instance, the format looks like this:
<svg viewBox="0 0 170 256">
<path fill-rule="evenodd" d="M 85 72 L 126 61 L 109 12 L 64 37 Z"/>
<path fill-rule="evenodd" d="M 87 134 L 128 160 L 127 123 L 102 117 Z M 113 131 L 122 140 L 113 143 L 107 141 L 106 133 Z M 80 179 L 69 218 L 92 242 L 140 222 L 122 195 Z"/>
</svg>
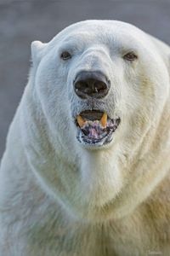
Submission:
<svg viewBox="0 0 170 256">
<path fill-rule="evenodd" d="M 104 151 L 90 151 L 75 147 L 74 154 L 71 154 L 71 148 L 66 149 L 65 145 L 63 146 L 59 141 L 51 141 L 47 127 L 44 131 L 43 128 L 40 131 L 40 127 L 47 124 L 41 124 L 44 121 L 43 114 L 37 113 L 38 119 L 34 115 L 30 118 L 36 119 L 32 124 L 38 125 L 38 132 L 37 134 L 36 132 L 30 134 L 29 137 L 32 137 L 34 141 L 39 140 L 41 143 L 38 143 L 37 148 L 37 145 L 33 148 L 37 154 L 34 151 L 27 157 L 30 160 L 31 156 L 39 157 L 39 160 L 32 160 L 32 162 L 37 163 L 37 166 L 32 166 L 33 169 L 42 168 L 42 172 L 48 178 L 49 185 L 54 187 L 54 194 L 61 193 L 59 196 L 63 198 L 66 204 L 69 204 L 68 198 L 71 199 L 71 204 L 76 208 L 80 207 L 79 204 L 81 204 L 82 216 L 89 215 L 89 218 L 96 218 L 96 214 L 99 212 L 98 207 L 102 207 L 103 210 L 100 213 L 101 215 L 104 214 L 105 218 L 126 216 L 150 195 L 150 192 L 161 182 L 169 170 L 170 163 L 167 160 L 169 153 L 168 127 L 170 126 L 168 107 L 169 103 L 167 102 L 161 113 L 160 121 L 150 126 L 150 130 L 146 132 L 141 142 L 137 143 L 138 147 L 132 154 L 127 154 L 128 150 L 126 151 L 123 143 L 116 143 L 112 150 L 105 149 Z M 27 113 L 28 120 L 30 110 L 28 109 Z M 35 113 L 35 110 L 33 111 Z M 32 114 L 34 113 L 32 112 Z M 29 123 L 31 122 L 29 121 Z M 36 130 L 37 127 L 34 131 Z M 31 127 L 28 127 L 28 132 L 31 131 Z M 149 141 L 150 143 L 148 143 Z M 55 150 L 56 143 L 57 151 Z M 30 147 L 29 143 L 28 147 Z M 66 159 L 62 154 L 65 150 L 68 153 Z M 167 162 L 166 166 L 165 164 L 162 165 L 164 161 Z M 147 172 L 147 166 L 150 166 L 150 172 Z M 57 175 L 57 168 L 63 170 L 63 174 L 60 176 Z M 156 172 L 157 169 L 160 172 Z M 48 170 L 49 176 L 46 170 Z M 103 172 L 103 170 L 106 171 Z M 128 186 L 129 173 L 131 181 L 133 181 L 130 188 Z M 43 180 L 41 182 L 42 185 L 46 186 Z M 58 187 L 59 190 L 56 190 Z M 64 190 L 66 197 L 62 196 Z M 110 202 L 109 205 L 108 202 Z M 108 211 L 108 216 L 105 211 Z M 111 212 L 114 212 L 112 216 L 110 215 Z M 99 218 L 102 219 L 103 216 L 100 216 L 100 213 Z"/>
</svg>

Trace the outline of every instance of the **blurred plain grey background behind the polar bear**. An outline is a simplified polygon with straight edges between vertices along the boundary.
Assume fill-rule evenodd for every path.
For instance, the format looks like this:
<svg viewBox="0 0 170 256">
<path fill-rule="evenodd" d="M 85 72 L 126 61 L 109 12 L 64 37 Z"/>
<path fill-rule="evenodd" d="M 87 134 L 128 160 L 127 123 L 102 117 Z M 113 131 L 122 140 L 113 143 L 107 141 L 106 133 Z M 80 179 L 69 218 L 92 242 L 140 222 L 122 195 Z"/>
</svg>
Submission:
<svg viewBox="0 0 170 256">
<path fill-rule="evenodd" d="M 127 21 L 170 44 L 170 0 L 0 0 L 0 158 L 26 86 L 31 41 L 48 42 L 87 19 Z"/>
</svg>

